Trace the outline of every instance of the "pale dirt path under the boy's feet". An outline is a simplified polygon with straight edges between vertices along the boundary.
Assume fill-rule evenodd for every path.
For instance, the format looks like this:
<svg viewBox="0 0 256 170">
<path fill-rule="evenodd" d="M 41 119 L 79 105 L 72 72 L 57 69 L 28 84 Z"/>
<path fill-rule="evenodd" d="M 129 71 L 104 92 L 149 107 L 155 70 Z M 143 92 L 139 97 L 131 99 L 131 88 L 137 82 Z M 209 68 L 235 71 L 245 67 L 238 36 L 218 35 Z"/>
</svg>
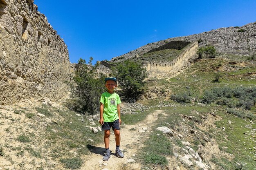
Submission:
<svg viewBox="0 0 256 170">
<path fill-rule="evenodd" d="M 148 115 L 146 119 L 139 122 L 136 125 L 125 125 L 121 128 L 121 146 L 123 149 L 124 158 L 118 158 L 115 154 L 115 135 L 111 130 L 110 135 L 110 151 L 111 157 L 109 161 L 103 161 L 102 157 L 105 155 L 104 142 L 97 146 L 91 147 L 91 154 L 86 155 L 82 158 L 85 163 L 83 164 L 81 170 L 102 170 L 107 168 L 108 170 L 123 169 L 125 164 L 129 164 L 130 168 L 135 170 L 140 170 L 141 165 L 139 163 L 127 163 L 127 160 L 136 157 L 137 151 L 143 147 L 142 141 L 147 137 L 148 133 L 151 131 L 152 123 L 157 119 L 157 115 L 163 113 L 163 110 L 156 110 L 153 114 Z M 132 129 L 132 130 L 131 130 Z M 103 135 L 102 135 L 103 141 Z M 108 165 L 103 165 L 107 163 Z M 130 169 L 128 168 L 128 169 Z"/>
</svg>

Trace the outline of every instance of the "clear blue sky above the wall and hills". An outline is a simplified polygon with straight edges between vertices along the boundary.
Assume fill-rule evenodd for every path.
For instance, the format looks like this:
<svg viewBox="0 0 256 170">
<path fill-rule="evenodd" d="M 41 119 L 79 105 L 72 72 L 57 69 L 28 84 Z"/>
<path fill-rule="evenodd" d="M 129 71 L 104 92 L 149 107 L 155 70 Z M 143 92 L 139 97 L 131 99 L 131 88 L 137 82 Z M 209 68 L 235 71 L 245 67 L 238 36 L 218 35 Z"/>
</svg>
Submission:
<svg viewBox="0 0 256 170">
<path fill-rule="evenodd" d="M 145 44 L 256 21 L 256 0 L 34 0 L 74 63 Z"/>
</svg>

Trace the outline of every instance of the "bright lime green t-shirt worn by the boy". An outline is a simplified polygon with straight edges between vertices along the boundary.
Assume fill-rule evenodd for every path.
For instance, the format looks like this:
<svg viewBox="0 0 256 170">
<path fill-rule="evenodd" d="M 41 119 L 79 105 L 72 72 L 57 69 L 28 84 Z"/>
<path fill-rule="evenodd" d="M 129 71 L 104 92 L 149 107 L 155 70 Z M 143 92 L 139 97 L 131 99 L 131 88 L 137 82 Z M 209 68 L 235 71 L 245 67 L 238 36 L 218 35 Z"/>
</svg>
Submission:
<svg viewBox="0 0 256 170">
<path fill-rule="evenodd" d="M 104 122 L 113 122 L 117 119 L 117 104 L 121 103 L 120 97 L 117 93 L 110 94 L 108 91 L 101 94 L 100 102 L 104 104 L 103 119 Z"/>
</svg>

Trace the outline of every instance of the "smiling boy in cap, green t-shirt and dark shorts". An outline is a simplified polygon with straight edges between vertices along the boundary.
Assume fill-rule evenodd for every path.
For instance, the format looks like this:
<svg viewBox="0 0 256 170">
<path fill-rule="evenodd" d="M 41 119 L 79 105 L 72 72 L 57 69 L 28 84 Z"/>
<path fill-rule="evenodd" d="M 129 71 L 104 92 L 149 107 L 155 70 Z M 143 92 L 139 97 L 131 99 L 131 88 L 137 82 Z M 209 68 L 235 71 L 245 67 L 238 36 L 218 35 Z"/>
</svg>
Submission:
<svg viewBox="0 0 256 170">
<path fill-rule="evenodd" d="M 119 158 L 123 158 L 124 154 L 119 149 L 121 141 L 119 125 L 122 121 L 119 106 L 121 101 L 119 95 L 114 92 L 114 89 L 117 87 L 117 79 L 115 77 L 108 77 L 105 78 L 105 82 L 107 91 L 101 94 L 99 123 L 101 124 L 101 130 L 104 130 L 104 143 L 107 152 L 103 157 L 103 161 L 108 161 L 110 158 L 109 137 L 111 127 L 116 137 L 116 155 Z"/>
</svg>

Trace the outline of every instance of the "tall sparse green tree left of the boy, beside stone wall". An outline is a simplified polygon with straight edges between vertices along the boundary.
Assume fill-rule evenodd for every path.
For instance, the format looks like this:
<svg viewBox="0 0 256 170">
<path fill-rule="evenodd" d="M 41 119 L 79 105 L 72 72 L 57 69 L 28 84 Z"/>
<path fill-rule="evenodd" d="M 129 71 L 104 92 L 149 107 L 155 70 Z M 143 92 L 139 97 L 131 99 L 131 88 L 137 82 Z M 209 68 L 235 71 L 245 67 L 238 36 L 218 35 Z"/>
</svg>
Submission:
<svg viewBox="0 0 256 170">
<path fill-rule="evenodd" d="M 91 65 L 93 58 L 90 57 Z M 76 66 L 75 85 L 72 92 L 76 97 L 74 109 L 81 113 L 94 114 L 99 111 L 99 99 L 105 91 L 104 76 L 95 77 L 95 66 L 88 67 L 85 60 L 79 59 Z"/>
</svg>

